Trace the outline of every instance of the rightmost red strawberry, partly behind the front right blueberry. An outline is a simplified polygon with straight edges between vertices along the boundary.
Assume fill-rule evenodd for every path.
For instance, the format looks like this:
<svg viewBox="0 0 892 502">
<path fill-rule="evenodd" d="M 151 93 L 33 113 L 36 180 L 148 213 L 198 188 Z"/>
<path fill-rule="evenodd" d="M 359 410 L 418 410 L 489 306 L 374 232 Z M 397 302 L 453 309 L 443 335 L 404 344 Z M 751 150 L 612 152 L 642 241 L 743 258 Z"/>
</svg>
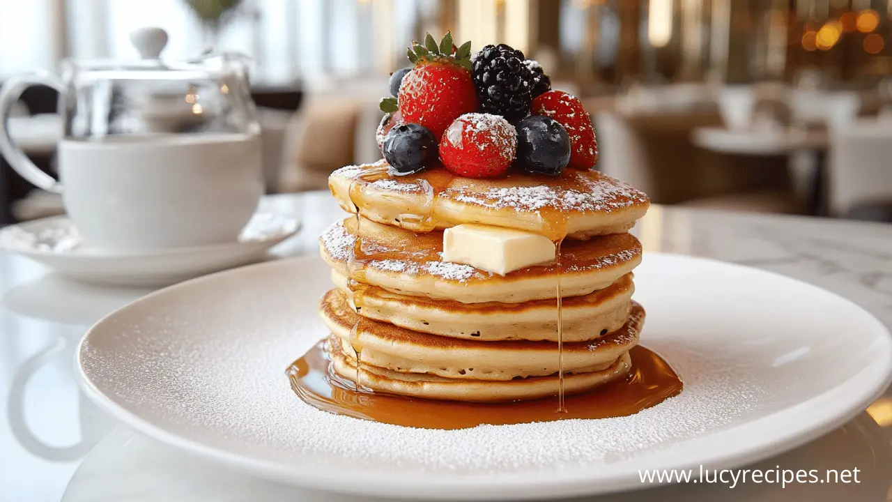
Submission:
<svg viewBox="0 0 892 502">
<path fill-rule="evenodd" d="M 591 169 L 598 162 L 598 142 L 589 114 L 578 97 L 564 91 L 549 92 L 533 99 L 533 113 L 560 122 L 570 135 L 570 167 Z"/>
</svg>

